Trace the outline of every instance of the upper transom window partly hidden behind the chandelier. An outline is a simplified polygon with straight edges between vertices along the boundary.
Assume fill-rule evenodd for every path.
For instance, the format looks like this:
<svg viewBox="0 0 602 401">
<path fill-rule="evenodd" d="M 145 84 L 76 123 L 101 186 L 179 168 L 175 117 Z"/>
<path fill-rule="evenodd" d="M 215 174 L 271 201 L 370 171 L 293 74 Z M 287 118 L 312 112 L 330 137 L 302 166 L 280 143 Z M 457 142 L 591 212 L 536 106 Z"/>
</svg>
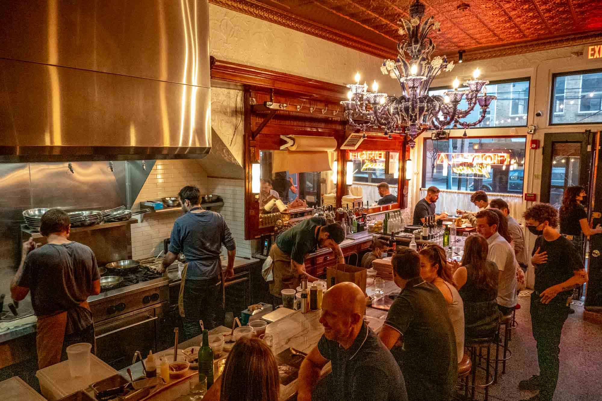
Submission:
<svg viewBox="0 0 602 401">
<path fill-rule="evenodd" d="M 485 85 L 487 95 L 497 96 L 491 102 L 485 113 L 485 118 L 477 125 L 479 128 L 494 128 L 500 126 L 526 126 L 527 111 L 529 110 L 529 78 L 520 78 L 512 81 L 494 81 Z M 468 88 L 459 88 L 466 90 Z M 452 88 L 435 88 L 429 95 L 443 95 Z M 468 103 L 465 99 L 460 102 L 459 108 L 466 110 Z M 481 110 L 477 105 L 465 119 L 475 122 L 480 118 Z M 452 128 L 447 126 L 446 128 Z"/>
</svg>

